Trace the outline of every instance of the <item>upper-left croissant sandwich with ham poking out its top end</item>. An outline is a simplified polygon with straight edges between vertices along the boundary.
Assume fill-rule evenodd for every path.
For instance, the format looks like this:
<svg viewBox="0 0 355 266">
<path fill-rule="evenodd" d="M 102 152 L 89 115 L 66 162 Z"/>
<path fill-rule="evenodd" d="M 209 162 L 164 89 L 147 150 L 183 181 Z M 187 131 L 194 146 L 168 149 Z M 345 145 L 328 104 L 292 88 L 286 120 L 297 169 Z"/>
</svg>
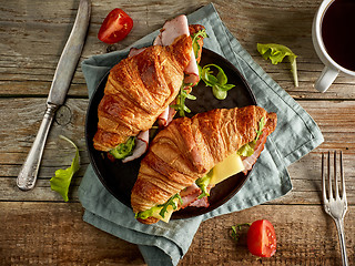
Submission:
<svg viewBox="0 0 355 266">
<path fill-rule="evenodd" d="M 135 136 L 145 142 L 146 150 L 148 130 L 159 117 L 168 120 L 169 105 L 182 84 L 199 81 L 203 35 L 194 37 L 201 30 L 202 25 L 189 27 L 186 17 L 180 16 L 165 22 L 153 45 L 131 49 L 129 57 L 112 68 L 98 108 L 95 150 L 112 151 L 121 158 L 121 150 L 132 147 Z"/>
</svg>

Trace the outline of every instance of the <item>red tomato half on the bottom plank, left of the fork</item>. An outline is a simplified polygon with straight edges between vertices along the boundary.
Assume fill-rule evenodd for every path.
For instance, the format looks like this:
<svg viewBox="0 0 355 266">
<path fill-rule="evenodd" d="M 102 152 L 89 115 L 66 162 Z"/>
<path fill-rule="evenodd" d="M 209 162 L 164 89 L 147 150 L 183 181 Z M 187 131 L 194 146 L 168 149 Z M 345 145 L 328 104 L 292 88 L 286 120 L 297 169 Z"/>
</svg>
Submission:
<svg viewBox="0 0 355 266">
<path fill-rule="evenodd" d="M 271 257 L 276 252 L 276 233 L 267 219 L 255 221 L 247 231 L 248 250 L 260 257 Z"/>
</svg>

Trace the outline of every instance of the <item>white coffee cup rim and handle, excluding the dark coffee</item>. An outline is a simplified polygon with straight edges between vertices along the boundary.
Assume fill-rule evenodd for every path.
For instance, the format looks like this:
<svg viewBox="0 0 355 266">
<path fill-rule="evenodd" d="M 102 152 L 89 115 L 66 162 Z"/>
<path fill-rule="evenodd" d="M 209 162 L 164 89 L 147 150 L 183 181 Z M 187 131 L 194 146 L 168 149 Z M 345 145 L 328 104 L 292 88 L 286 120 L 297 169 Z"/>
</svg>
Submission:
<svg viewBox="0 0 355 266">
<path fill-rule="evenodd" d="M 334 82 L 339 72 L 354 75 L 355 71 L 351 71 L 348 69 L 343 68 L 338 63 L 336 63 L 331 55 L 326 52 L 323 38 L 322 38 L 322 20 L 327 10 L 327 8 L 336 0 L 324 0 L 318 8 L 312 27 L 312 40 L 314 49 L 321 59 L 321 61 L 325 64 L 325 68 L 322 71 L 321 76 L 315 82 L 315 89 L 320 92 L 325 92 L 331 84 Z"/>
</svg>

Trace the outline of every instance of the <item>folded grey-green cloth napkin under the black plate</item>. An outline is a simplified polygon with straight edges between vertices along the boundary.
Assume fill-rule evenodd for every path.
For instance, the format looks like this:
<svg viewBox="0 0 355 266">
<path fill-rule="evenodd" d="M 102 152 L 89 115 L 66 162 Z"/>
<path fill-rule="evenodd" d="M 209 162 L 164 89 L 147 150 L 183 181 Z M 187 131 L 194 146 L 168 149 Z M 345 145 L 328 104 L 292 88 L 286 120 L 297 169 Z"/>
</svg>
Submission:
<svg viewBox="0 0 355 266">
<path fill-rule="evenodd" d="M 88 167 L 79 188 L 79 197 L 85 208 L 83 219 L 124 241 L 138 244 L 145 263 L 154 266 L 176 265 L 187 252 L 201 222 L 285 195 L 292 190 L 286 166 L 323 142 L 316 123 L 253 61 L 223 24 L 212 3 L 191 13 L 187 19 L 190 23 L 200 23 L 206 28 L 209 38 L 204 45 L 226 58 L 240 70 L 251 85 L 257 104 L 267 112 L 277 113 L 278 122 L 241 191 L 219 208 L 193 218 L 175 219 L 169 224 L 140 224 L 132 211 L 113 197 L 98 180 L 92 167 Z M 158 31 L 131 47 L 151 45 L 156 34 Z M 83 61 L 82 70 L 90 96 L 102 76 L 126 57 L 129 49 Z"/>
</svg>

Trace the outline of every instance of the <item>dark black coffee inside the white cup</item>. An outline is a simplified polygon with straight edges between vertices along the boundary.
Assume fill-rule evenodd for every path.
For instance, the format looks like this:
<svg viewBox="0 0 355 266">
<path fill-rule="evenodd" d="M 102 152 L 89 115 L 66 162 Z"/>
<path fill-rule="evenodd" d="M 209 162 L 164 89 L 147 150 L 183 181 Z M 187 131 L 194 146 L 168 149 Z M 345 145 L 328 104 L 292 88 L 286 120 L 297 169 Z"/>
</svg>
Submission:
<svg viewBox="0 0 355 266">
<path fill-rule="evenodd" d="M 325 11 L 322 37 L 331 58 L 355 71 L 355 0 L 335 0 Z"/>
</svg>

